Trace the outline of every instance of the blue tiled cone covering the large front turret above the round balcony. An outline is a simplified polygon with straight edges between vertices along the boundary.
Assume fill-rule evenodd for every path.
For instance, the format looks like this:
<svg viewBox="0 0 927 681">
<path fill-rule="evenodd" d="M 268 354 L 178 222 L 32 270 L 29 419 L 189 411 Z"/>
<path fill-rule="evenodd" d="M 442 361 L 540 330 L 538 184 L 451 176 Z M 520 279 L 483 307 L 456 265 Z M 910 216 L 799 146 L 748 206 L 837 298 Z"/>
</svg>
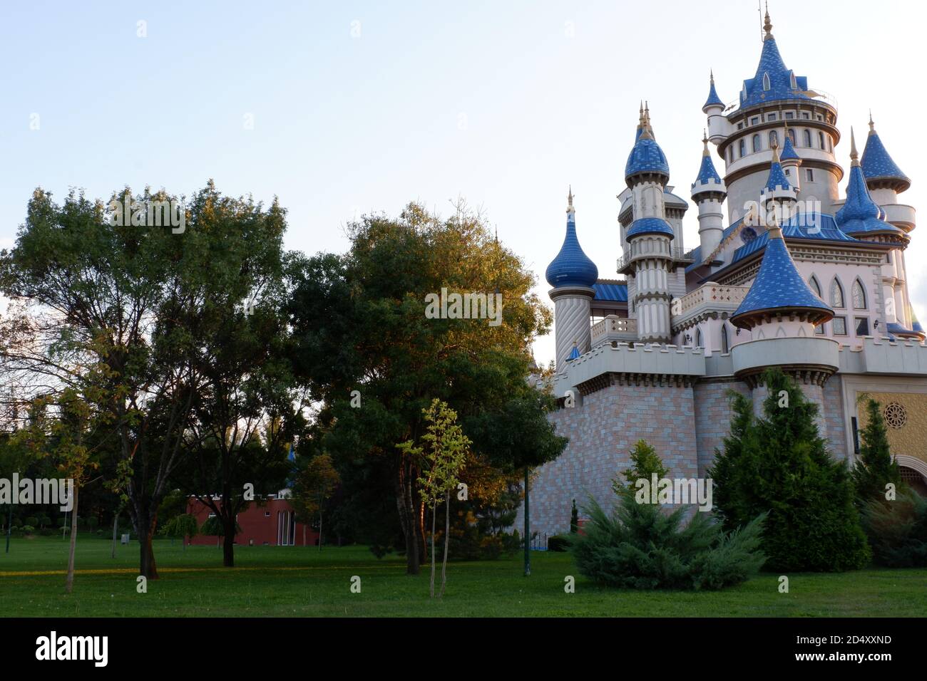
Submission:
<svg viewBox="0 0 927 681">
<path fill-rule="evenodd" d="M 760 237 L 757 237 L 751 245 L 759 240 Z M 833 310 L 814 294 L 795 269 L 785 241 L 778 237 L 768 238 L 763 264 L 747 295 L 743 297 L 743 302 L 731 316 L 731 322 L 737 324 L 739 318 L 761 310 L 796 308 L 819 309 L 833 314 Z"/>
</svg>

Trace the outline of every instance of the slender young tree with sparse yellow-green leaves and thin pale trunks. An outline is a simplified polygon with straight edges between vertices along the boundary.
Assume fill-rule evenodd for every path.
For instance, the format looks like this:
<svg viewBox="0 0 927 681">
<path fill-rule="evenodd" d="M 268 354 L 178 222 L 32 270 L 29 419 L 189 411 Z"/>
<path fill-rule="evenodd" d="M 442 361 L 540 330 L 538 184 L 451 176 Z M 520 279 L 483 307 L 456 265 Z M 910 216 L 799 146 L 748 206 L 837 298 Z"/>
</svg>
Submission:
<svg viewBox="0 0 927 681">
<path fill-rule="evenodd" d="M 397 445 L 413 460 L 424 460 L 422 475 L 417 483 L 419 491 L 431 506 L 431 598 L 435 598 L 435 520 L 438 502 L 444 501 L 444 560 L 441 563 L 441 590 L 438 598 L 444 596 L 447 584 L 448 543 L 451 538 L 451 491 L 460 483 L 458 475 L 464 468 L 470 439 L 457 425 L 457 412 L 446 402 L 435 398 L 425 410 L 425 434 L 423 446 L 416 447 L 412 440 Z"/>
</svg>

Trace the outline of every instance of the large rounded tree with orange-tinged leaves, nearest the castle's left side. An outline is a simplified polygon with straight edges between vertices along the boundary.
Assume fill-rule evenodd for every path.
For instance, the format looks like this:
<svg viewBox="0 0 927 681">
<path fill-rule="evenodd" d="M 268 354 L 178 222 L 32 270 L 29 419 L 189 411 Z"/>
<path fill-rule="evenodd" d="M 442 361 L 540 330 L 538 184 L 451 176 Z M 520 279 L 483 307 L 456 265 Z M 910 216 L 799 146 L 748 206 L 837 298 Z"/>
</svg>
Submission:
<svg viewBox="0 0 927 681">
<path fill-rule="evenodd" d="M 293 365 L 321 405 L 318 427 L 341 474 L 343 503 L 366 505 L 344 508 L 343 515 L 374 516 L 392 498 L 408 574 L 418 574 L 425 550 L 425 503 L 416 486 L 419 462 L 395 444 L 418 441 L 423 410 L 434 397 L 459 414 L 476 442 L 470 422 L 533 391 L 526 382 L 530 343 L 551 323 L 531 293 L 532 274 L 492 238 L 480 216 L 459 208 L 441 219 L 411 204 L 398 220 L 365 216 L 352 223 L 349 252 L 309 259 L 291 304 Z M 442 289 L 498 292 L 504 301 L 499 324 L 429 318 L 425 296 Z M 539 398 L 532 409 L 540 411 Z M 499 424 L 508 437 L 524 433 L 526 449 L 552 434 L 544 422 L 536 437 L 535 414 L 527 413 L 529 422 Z M 491 448 L 475 450 L 497 465 Z M 368 537 L 370 543 L 394 542 L 391 527 L 376 528 L 380 534 Z"/>
</svg>

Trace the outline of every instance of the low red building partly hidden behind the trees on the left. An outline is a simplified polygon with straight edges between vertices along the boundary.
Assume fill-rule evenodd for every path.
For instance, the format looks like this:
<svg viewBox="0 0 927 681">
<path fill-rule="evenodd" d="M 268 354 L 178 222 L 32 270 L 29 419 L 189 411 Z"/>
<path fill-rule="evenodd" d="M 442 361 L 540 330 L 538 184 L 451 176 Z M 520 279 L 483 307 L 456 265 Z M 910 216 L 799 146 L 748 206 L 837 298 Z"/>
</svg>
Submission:
<svg viewBox="0 0 927 681">
<path fill-rule="evenodd" d="M 190 498 L 187 511 L 197 516 L 197 524 L 202 525 L 210 516 L 215 515 L 211 509 L 196 498 Z M 261 504 L 252 501 L 246 511 L 237 515 L 241 532 L 235 535 L 235 544 L 243 546 L 316 546 L 319 533 L 309 525 L 296 522 L 293 507 L 285 498 L 265 499 Z M 222 537 L 197 535 L 192 544 L 208 545 L 222 541 Z"/>
</svg>

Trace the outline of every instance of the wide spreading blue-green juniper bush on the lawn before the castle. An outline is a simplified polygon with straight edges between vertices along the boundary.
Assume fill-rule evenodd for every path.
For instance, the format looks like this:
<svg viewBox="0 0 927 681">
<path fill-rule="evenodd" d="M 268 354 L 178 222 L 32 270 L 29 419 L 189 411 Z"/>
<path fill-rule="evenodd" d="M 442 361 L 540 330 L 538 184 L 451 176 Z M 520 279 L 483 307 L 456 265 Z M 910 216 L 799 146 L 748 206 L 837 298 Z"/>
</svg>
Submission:
<svg viewBox="0 0 927 681">
<path fill-rule="evenodd" d="M 611 515 L 590 499 L 584 534 L 567 536 L 579 572 L 599 584 L 715 590 L 745 581 L 766 560 L 759 550 L 762 515 L 726 534 L 703 512 L 682 527 L 685 507 L 667 512 L 639 504 L 628 489 L 618 498 Z"/>
</svg>

